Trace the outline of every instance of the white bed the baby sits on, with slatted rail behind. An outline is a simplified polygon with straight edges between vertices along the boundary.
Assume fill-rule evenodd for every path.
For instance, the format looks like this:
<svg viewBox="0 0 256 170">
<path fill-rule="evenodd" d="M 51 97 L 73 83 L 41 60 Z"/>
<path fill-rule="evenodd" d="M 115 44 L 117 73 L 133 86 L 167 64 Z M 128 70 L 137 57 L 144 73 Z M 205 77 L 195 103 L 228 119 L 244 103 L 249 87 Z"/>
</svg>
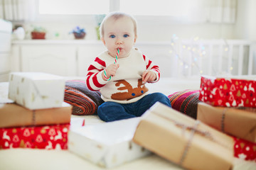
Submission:
<svg viewBox="0 0 256 170">
<path fill-rule="evenodd" d="M 168 44 L 137 45 L 146 55 L 157 61 L 162 76 L 156 84 L 148 84 L 151 92 L 166 96 L 186 89 L 199 90 L 201 74 L 255 74 L 255 42 L 243 40 L 177 40 Z M 170 64 L 166 64 L 170 63 Z M 85 79 L 85 77 L 65 77 Z M 8 82 L 0 82 L 0 103 L 8 101 Z M 85 125 L 104 123 L 97 115 L 72 115 L 84 118 Z M 235 159 L 234 169 L 255 169 L 256 164 Z M 0 169 L 102 169 L 68 150 L 0 149 Z M 124 169 L 181 169 L 156 154 L 137 159 L 114 168 Z"/>
</svg>

